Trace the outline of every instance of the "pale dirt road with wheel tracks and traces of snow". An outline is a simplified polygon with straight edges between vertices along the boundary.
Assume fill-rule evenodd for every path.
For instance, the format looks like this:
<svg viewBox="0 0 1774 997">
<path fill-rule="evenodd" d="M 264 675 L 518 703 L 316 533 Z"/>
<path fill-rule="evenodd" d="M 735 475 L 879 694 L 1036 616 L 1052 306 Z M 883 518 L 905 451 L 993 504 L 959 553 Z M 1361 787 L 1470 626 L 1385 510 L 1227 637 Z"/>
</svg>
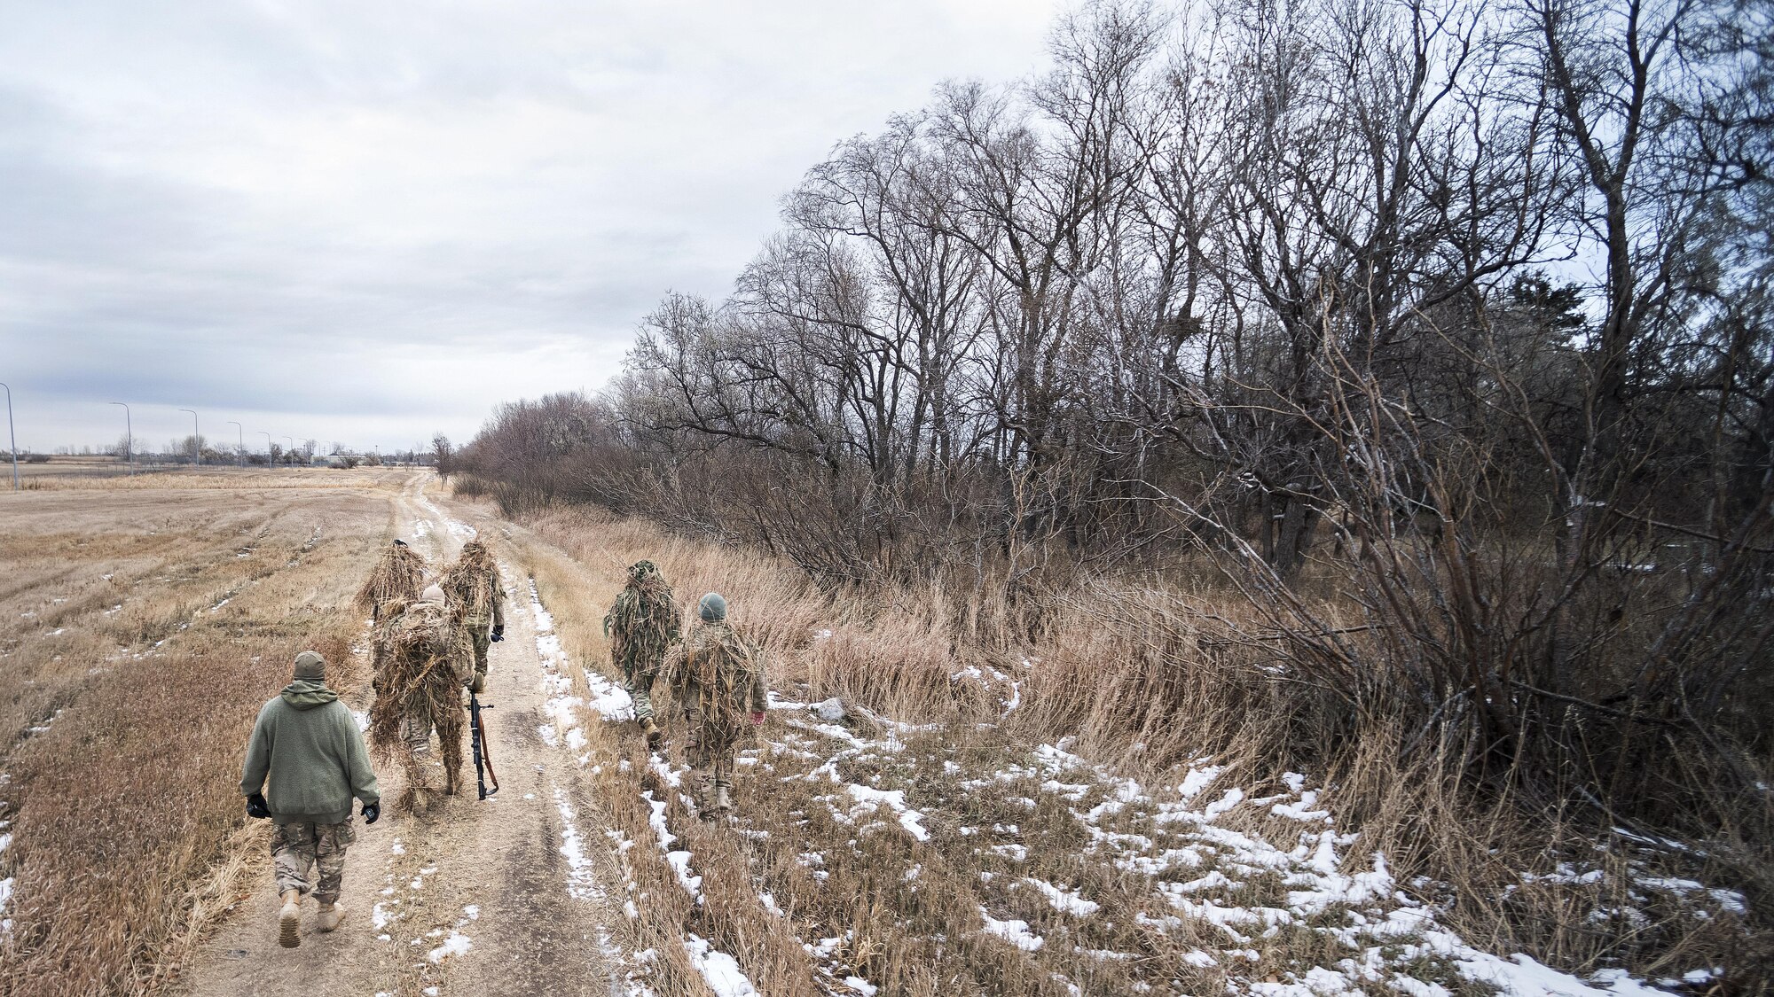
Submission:
<svg viewBox="0 0 1774 997">
<path fill-rule="evenodd" d="M 314 903 L 303 905 L 298 949 L 277 944 L 277 892 L 270 875 L 199 953 L 188 976 L 197 995 L 312 993 L 623 993 L 612 970 L 612 924 L 621 912 L 603 899 L 587 841 L 601 828 L 580 827 L 587 786 L 571 747 L 550 745 L 545 665 L 538 617 L 516 545 L 506 529 L 428 493 L 429 474 L 413 475 L 394 500 L 394 536 L 442 568 L 484 530 L 506 575 L 506 640 L 491 646 L 484 703 L 500 791 L 475 800 L 467 791 L 424 816 L 392 807 L 397 766 L 380 766 L 390 805 L 373 827 L 357 823 L 346 857 L 341 903 L 344 924 L 314 931 Z M 367 630 L 358 667 L 367 667 Z M 365 699 L 351 703 L 365 711 Z M 435 779 L 442 784 L 442 775 Z"/>
</svg>

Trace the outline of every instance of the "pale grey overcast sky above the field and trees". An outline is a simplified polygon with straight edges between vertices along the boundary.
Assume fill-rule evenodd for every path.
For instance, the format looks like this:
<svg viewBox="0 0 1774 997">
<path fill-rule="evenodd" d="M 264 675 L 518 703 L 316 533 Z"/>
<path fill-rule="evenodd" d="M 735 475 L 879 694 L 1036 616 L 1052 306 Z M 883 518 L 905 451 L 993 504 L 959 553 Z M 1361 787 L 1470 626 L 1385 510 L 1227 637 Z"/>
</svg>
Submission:
<svg viewBox="0 0 1774 997">
<path fill-rule="evenodd" d="M 21 449 L 401 449 L 598 389 L 834 142 L 1043 62 L 1050 0 L 0 0 Z M 0 440 L 4 445 L 4 440 Z"/>
</svg>

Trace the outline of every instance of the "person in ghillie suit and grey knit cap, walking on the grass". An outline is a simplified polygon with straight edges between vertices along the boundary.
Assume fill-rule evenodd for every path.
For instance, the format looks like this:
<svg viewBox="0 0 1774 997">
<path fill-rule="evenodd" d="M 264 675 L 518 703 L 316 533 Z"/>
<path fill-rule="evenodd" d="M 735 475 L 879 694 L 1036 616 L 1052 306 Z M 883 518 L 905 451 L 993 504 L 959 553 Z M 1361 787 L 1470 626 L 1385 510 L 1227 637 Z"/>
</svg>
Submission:
<svg viewBox="0 0 1774 997">
<path fill-rule="evenodd" d="M 768 683 L 757 651 L 727 624 L 727 600 L 708 593 L 697 603 L 697 616 L 703 619 L 683 642 L 672 692 L 690 717 L 690 766 L 697 770 L 703 800 L 715 811 L 731 811 L 733 756 L 747 731 L 747 706 L 750 726 L 763 724 Z"/>
</svg>

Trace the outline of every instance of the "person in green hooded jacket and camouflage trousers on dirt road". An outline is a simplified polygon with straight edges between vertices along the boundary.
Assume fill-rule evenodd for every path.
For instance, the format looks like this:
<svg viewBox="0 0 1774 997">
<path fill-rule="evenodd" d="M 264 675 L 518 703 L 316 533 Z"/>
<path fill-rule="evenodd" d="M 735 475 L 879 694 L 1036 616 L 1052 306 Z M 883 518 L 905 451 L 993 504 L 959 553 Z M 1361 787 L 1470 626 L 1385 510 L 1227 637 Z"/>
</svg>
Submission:
<svg viewBox="0 0 1774 997">
<path fill-rule="evenodd" d="M 369 768 L 364 734 L 339 694 L 326 688 L 326 662 L 314 651 L 296 655 L 294 681 L 259 710 L 247 742 L 239 791 L 247 816 L 271 818 L 271 866 L 279 912 L 279 944 L 302 944 L 302 896 L 309 867 L 319 867 L 312 887 L 319 901 L 318 926 L 332 931 L 344 919 L 339 880 L 344 852 L 357 839 L 351 798 L 364 802 L 364 823 L 381 816 L 381 793 Z"/>
</svg>

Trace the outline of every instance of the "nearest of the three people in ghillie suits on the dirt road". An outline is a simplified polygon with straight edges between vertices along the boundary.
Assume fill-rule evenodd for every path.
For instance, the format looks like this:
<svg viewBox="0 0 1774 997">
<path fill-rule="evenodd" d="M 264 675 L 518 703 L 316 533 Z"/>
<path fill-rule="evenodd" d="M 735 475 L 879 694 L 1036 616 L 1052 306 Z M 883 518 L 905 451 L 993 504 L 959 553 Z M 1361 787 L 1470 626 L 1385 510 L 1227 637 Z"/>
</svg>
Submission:
<svg viewBox="0 0 1774 997">
<path fill-rule="evenodd" d="M 444 605 L 444 589 L 429 585 L 419 601 L 389 607 L 387 623 L 376 630 L 373 667 L 371 745 L 380 758 L 401 761 L 401 804 L 422 811 L 431 791 L 426 761 L 433 727 L 444 754 L 444 793 L 456 791 L 467 726 L 461 687 L 474 678 L 474 648 Z"/>
</svg>

